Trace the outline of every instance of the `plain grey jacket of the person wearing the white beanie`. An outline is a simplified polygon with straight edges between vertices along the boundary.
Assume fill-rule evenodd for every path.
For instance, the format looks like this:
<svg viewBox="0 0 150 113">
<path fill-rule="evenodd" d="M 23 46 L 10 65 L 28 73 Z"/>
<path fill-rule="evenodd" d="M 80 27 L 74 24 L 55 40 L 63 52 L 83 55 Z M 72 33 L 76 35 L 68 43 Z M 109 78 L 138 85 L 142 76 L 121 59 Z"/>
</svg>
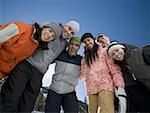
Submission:
<svg viewBox="0 0 150 113">
<path fill-rule="evenodd" d="M 61 30 L 63 27 L 60 26 Z M 62 33 L 62 31 L 60 31 Z M 48 66 L 58 57 L 58 55 L 66 47 L 67 41 L 59 35 L 53 42 L 48 43 L 48 50 L 36 49 L 32 56 L 27 61 L 33 65 L 42 74 L 45 74 L 48 70 Z"/>
</svg>

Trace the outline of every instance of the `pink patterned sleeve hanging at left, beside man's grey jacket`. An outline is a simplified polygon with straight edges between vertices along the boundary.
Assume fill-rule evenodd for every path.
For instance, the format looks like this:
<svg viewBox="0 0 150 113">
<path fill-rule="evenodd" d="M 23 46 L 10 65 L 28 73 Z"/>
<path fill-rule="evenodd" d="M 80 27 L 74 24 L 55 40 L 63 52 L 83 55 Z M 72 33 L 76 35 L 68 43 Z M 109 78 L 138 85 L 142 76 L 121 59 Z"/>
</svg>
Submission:
<svg viewBox="0 0 150 113">
<path fill-rule="evenodd" d="M 87 66 L 85 64 L 85 59 L 82 58 L 81 68 L 80 68 L 80 79 L 81 80 L 86 80 L 86 76 L 87 76 Z"/>
</svg>

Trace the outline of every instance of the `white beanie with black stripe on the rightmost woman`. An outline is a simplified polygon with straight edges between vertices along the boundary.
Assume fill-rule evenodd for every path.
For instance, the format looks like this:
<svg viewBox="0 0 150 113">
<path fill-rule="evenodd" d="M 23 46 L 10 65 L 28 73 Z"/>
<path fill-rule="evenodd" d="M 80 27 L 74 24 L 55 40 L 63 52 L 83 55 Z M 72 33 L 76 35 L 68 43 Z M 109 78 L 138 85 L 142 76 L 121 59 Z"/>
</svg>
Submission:
<svg viewBox="0 0 150 113">
<path fill-rule="evenodd" d="M 107 49 L 108 54 L 110 56 L 112 56 L 113 50 L 115 50 L 117 48 L 123 48 L 123 49 L 125 49 L 125 46 L 122 45 L 122 44 L 120 44 L 118 41 L 111 41 L 110 44 L 108 45 L 108 49 Z"/>
</svg>

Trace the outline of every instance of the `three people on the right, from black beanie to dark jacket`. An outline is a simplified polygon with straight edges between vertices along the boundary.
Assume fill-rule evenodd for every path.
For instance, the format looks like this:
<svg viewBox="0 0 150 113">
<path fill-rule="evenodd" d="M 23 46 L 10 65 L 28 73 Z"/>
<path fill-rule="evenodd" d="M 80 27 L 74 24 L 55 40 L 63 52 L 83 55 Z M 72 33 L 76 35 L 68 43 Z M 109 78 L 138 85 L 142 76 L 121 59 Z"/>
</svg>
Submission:
<svg viewBox="0 0 150 113">
<path fill-rule="evenodd" d="M 85 56 L 80 77 L 86 81 L 90 113 L 150 112 L 150 45 L 109 42 L 103 34 L 95 41 L 91 33 L 81 41 Z"/>
</svg>

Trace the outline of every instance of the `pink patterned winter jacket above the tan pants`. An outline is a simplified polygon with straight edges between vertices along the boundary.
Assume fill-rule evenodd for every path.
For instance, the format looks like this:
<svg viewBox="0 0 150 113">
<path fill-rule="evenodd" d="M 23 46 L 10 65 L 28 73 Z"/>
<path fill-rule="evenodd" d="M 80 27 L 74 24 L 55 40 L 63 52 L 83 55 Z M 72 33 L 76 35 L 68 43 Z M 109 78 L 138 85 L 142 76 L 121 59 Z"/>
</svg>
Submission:
<svg viewBox="0 0 150 113">
<path fill-rule="evenodd" d="M 87 94 L 97 94 L 102 90 L 114 91 L 114 87 L 125 87 L 120 67 L 107 54 L 107 49 L 99 46 L 98 58 L 88 67 L 81 61 L 80 79 L 86 81 Z"/>
</svg>

